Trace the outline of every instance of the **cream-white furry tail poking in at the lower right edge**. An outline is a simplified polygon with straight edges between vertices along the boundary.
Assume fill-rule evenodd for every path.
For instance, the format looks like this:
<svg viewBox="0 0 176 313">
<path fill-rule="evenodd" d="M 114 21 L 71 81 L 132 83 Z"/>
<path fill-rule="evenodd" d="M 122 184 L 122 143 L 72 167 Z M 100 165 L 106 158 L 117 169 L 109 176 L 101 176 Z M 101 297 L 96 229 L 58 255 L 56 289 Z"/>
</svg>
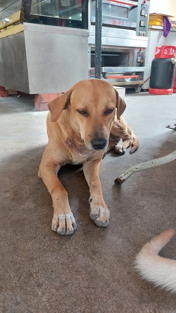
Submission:
<svg viewBox="0 0 176 313">
<path fill-rule="evenodd" d="M 147 242 L 135 258 L 135 268 L 143 279 L 162 289 L 176 292 L 176 261 L 162 258 L 159 251 L 176 233 L 170 229 Z"/>
</svg>

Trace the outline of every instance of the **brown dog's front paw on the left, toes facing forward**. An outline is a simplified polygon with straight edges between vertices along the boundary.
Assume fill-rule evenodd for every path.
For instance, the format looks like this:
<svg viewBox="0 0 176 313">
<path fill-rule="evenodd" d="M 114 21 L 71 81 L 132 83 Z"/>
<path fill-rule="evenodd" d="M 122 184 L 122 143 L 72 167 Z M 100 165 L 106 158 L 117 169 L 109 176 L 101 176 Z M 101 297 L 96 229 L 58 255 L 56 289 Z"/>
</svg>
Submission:
<svg viewBox="0 0 176 313">
<path fill-rule="evenodd" d="M 76 229 L 76 222 L 72 212 L 54 214 L 51 229 L 60 235 L 71 235 Z"/>
</svg>

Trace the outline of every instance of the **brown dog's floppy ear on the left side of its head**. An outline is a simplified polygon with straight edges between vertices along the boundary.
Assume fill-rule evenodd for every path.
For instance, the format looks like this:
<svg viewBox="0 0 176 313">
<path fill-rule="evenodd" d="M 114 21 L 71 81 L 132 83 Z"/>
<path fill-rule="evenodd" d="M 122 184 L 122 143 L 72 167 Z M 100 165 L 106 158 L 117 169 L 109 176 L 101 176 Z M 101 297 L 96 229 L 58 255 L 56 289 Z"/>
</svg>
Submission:
<svg viewBox="0 0 176 313">
<path fill-rule="evenodd" d="M 48 103 L 48 109 L 51 112 L 51 122 L 57 121 L 64 109 L 66 109 L 66 105 L 70 100 L 71 89 L 66 91 L 63 95 L 58 96 L 56 99 L 52 100 Z"/>
</svg>

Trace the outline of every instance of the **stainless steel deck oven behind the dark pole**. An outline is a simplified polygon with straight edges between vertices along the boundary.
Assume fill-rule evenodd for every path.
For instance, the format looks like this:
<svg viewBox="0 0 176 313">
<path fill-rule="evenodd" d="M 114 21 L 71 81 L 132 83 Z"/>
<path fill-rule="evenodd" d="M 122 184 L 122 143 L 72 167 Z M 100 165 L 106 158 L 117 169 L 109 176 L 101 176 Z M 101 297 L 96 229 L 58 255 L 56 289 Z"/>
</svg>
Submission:
<svg viewBox="0 0 176 313">
<path fill-rule="evenodd" d="M 95 75 L 95 0 L 91 1 L 89 76 Z M 144 83 L 149 0 L 103 0 L 101 78 L 117 86 Z"/>
</svg>

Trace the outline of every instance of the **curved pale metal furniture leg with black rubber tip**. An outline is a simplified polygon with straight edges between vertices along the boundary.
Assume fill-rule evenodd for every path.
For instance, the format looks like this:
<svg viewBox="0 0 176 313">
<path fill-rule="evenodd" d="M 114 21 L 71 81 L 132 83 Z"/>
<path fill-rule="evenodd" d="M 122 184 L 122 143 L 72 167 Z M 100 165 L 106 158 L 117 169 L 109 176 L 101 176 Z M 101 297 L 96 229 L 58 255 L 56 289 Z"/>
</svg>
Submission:
<svg viewBox="0 0 176 313">
<path fill-rule="evenodd" d="M 132 166 L 130 169 L 127 169 L 121 176 L 117 177 L 114 183 L 116 185 L 121 185 L 127 178 L 129 178 L 133 173 L 138 172 L 139 170 L 155 168 L 156 166 L 163 165 L 174 160 L 176 160 L 176 150 L 168 155 L 165 155 L 164 157 Z"/>
</svg>

